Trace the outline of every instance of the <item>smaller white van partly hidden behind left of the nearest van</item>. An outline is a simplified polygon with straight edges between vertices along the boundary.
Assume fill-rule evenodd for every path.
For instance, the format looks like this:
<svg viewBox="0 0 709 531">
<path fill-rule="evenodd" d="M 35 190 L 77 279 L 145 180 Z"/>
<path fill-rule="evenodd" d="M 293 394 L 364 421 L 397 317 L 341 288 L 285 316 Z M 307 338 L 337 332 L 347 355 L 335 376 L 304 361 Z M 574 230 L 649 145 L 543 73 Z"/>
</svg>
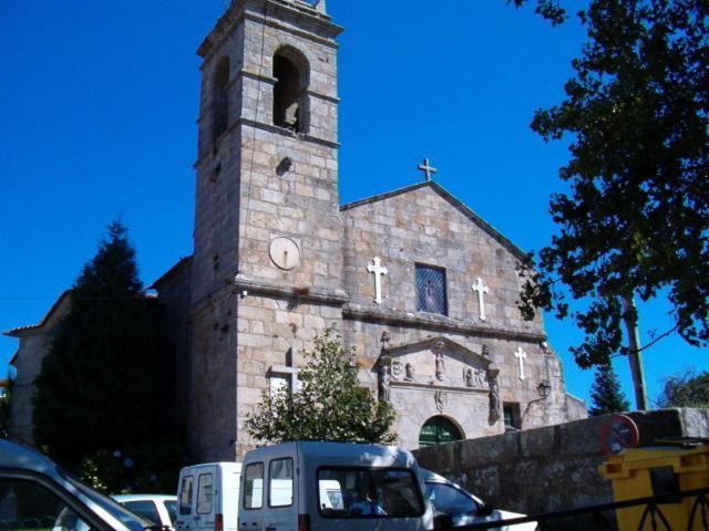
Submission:
<svg viewBox="0 0 709 531">
<path fill-rule="evenodd" d="M 209 462 L 183 468 L 177 487 L 175 529 L 236 531 L 240 476 L 240 462 Z"/>
</svg>

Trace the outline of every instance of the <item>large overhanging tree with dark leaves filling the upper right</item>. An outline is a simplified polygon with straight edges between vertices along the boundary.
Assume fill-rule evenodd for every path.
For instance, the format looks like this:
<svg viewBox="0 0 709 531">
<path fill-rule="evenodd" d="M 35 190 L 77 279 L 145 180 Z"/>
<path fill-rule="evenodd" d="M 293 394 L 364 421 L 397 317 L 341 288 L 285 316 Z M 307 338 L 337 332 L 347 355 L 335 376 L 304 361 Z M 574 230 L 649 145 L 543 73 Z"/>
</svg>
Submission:
<svg viewBox="0 0 709 531">
<path fill-rule="evenodd" d="M 626 304 L 636 295 L 667 296 L 675 322 L 661 335 L 703 346 L 709 2 L 589 0 L 579 18 L 587 42 L 566 98 L 532 123 L 547 142 L 568 135 L 571 159 L 559 175 L 569 191 L 552 198 L 558 232 L 523 268 L 521 309 L 527 319 L 540 306 L 571 314 L 585 332 L 572 348 L 580 366 L 627 353 L 621 327 L 626 317 L 637 322 Z"/>
</svg>

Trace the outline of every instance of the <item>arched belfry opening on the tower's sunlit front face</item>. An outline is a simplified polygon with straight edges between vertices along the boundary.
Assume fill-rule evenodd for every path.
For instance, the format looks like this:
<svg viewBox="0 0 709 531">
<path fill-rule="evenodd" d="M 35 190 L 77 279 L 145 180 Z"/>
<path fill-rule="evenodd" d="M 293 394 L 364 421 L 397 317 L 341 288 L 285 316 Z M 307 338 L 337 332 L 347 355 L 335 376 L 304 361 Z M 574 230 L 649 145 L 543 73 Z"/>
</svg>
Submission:
<svg viewBox="0 0 709 531">
<path fill-rule="evenodd" d="M 274 125 L 304 133 L 308 129 L 308 60 L 292 48 L 274 55 Z"/>
</svg>

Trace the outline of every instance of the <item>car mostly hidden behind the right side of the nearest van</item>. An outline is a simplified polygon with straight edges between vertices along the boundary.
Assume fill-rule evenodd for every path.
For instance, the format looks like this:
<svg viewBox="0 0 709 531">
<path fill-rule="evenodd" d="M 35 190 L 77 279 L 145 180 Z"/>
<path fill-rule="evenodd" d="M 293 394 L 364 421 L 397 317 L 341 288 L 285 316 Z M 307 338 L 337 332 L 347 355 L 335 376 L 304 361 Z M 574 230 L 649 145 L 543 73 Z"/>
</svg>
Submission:
<svg viewBox="0 0 709 531">
<path fill-rule="evenodd" d="M 453 527 L 471 525 L 473 523 L 494 522 L 523 518 L 525 514 L 503 511 L 486 504 L 483 500 L 471 494 L 453 481 L 439 476 L 431 470 L 421 468 L 421 476 L 425 485 L 425 493 L 435 510 L 436 516 L 446 514 L 453 519 Z M 537 522 L 503 525 L 495 530 L 535 531 Z"/>
</svg>

